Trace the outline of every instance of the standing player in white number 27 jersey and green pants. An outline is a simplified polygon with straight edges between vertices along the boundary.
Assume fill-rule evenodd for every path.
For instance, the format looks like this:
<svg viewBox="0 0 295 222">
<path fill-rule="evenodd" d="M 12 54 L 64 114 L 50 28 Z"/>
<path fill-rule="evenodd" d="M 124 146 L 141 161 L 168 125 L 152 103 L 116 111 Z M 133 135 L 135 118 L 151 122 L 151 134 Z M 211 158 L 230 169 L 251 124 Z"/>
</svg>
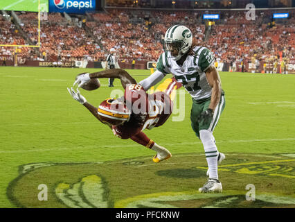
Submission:
<svg viewBox="0 0 295 222">
<path fill-rule="evenodd" d="M 195 134 L 201 139 L 208 163 L 208 181 L 200 192 L 222 192 L 217 164 L 225 156 L 217 150 L 213 130 L 224 110 L 224 92 L 215 59 L 206 47 L 193 44 L 193 34 L 186 26 L 175 25 L 165 34 L 165 52 L 157 62 L 157 71 L 139 84 L 145 90 L 159 83 L 166 74 L 172 74 L 193 97 L 190 121 Z"/>
</svg>

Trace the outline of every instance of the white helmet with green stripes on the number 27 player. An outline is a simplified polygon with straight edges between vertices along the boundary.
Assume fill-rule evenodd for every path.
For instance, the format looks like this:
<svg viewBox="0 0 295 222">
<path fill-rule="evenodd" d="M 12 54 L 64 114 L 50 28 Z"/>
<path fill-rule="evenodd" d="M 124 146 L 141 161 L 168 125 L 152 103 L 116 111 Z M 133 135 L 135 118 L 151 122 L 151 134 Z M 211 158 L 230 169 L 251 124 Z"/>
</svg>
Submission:
<svg viewBox="0 0 295 222">
<path fill-rule="evenodd" d="M 186 26 L 175 25 L 168 28 L 164 41 L 166 50 L 171 51 L 173 48 L 178 50 L 178 56 L 172 58 L 177 61 L 192 46 L 193 34 Z"/>
</svg>

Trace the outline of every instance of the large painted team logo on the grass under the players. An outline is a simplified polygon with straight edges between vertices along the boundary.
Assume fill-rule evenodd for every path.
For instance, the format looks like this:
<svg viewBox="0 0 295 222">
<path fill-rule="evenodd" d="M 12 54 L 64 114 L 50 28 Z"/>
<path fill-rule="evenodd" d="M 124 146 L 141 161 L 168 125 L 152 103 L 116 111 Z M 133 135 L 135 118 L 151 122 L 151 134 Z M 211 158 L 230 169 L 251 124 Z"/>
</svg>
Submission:
<svg viewBox="0 0 295 222">
<path fill-rule="evenodd" d="M 160 164 L 151 157 L 26 164 L 10 182 L 7 196 L 17 207 L 295 207 L 292 157 L 234 153 L 227 157 L 220 166 L 222 194 L 197 191 L 206 181 L 206 160 L 204 155 L 186 153 Z M 245 198 L 249 183 L 256 186 L 253 201 Z M 38 199 L 39 185 L 48 187 L 46 201 Z"/>
</svg>

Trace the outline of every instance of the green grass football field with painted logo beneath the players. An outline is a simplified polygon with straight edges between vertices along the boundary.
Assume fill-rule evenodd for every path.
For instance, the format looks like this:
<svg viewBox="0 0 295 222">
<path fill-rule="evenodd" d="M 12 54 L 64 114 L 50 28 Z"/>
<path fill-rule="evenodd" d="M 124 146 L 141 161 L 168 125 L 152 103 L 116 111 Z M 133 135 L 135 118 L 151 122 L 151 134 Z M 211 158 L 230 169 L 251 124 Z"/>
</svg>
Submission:
<svg viewBox="0 0 295 222">
<path fill-rule="evenodd" d="M 0 207 L 295 207 L 294 75 L 220 73 L 226 108 L 214 135 L 226 154 L 224 193 L 201 195 L 206 159 L 190 127 L 190 95 L 184 121 L 145 130 L 172 153 L 154 164 L 154 151 L 114 137 L 71 98 L 66 87 L 84 71 L 98 69 L 0 67 Z M 150 74 L 127 71 L 138 82 Z M 100 83 L 81 89 L 93 105 L 123 89 Z M 38 200 L 40 184 L 48 201 Z M 248 184 L 253 203 L 244 200 Z"/>
</svg>

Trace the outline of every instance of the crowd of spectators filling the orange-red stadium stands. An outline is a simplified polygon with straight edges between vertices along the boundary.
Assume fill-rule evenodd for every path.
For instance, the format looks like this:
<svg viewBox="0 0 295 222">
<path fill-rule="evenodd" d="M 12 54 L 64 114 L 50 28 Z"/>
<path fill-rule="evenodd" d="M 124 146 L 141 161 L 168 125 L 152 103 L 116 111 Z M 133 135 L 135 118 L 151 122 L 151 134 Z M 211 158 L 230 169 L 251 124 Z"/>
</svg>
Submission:
<svg viewBox="0 0 295 222">
<path fill-rule="evenodd" d="M 102 61 L 116 50 L 120 60 L 157 60 L 163 51 L 163 35 L 173 24 L 184 24 L 193 31 L 198 44 L 207 46 L 215 58 L 251 60 L 253 56 L 265 58 L 278 56 L 279 51 L 293 58 L 295 46 L 294 13 L 282 22 L 271 20 L 274 11 L 256 12 L 255 21 L 245 19 L 245 12 L 221 11 L 220 19 L 205 34 L 202 11 L 159 11 L 109 9 L 69 22 L 60 13 L 48 13 L 41 22 L 40 48 L 22 47 L 19 56 L 31 60 L 81 60 Z M 214 12 L 211 12 L 214 13 Z M 21 35 L 13 22 L 0 15 L 0 44 L 38 44 L 36 12 L 17 12 L 21 20 Z M 205 42 L 206 40 L 206 42 Z M 11 48 L 2 47 L 10 51 Z"/>
</svg>

